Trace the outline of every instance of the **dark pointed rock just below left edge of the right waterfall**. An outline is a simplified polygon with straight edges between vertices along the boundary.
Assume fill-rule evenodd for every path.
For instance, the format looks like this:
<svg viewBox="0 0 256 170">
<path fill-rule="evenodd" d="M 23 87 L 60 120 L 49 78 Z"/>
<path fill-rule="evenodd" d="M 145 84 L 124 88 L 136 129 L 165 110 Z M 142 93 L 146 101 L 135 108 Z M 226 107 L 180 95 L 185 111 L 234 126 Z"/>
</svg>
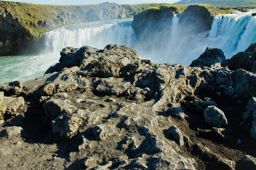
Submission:
<svg viewBox="0 0 256 170">
<path fill-rule="evenodd" d="M 216 67 L 216 66 L 225 66 L 226 57 L 221 49 L 217 48 L 207 48 L 199 58 L 192 61 L 190 67 L 195 66 L 207 66 L 207 67 Z"/>
</svg>

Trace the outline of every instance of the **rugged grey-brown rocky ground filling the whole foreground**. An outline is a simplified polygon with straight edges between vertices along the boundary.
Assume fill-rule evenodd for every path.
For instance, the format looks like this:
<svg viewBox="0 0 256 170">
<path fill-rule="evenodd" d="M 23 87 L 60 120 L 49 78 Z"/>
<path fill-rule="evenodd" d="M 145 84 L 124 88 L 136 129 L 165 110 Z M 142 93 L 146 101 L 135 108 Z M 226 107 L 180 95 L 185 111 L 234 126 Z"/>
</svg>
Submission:
<svg viewBox="0 0 256 170">
<path fill-rule="evenodd" d="M 255 166 L 256 75 L 210 55 L 153 66 L 121 45 L 63 49 L 43 77 L 0 84 L 0 168 Z"/>
</svg>

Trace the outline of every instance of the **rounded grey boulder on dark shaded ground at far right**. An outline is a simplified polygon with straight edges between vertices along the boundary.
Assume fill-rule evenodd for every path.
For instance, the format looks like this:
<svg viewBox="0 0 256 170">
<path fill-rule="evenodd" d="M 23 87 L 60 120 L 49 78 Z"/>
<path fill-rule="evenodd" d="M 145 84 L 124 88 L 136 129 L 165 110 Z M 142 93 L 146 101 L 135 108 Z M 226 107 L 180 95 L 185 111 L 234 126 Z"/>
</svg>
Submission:
<svg viewBox="0 0 256 170">
<path fill-rule="evenodd" d="M 224 112 L 215 106 L 209 106 L 204 109 L 204 118 L 205 122 L 209 125 L 221 126 L 228 124 L 228 120 L 226 120 Z"/>
</svg>

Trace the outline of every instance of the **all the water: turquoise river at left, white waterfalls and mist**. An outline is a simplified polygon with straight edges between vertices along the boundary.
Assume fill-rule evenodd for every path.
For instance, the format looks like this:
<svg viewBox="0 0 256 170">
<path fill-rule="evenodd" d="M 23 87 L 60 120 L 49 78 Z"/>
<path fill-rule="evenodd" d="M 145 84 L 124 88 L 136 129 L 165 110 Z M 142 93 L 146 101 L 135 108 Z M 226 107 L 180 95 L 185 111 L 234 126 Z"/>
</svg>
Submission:
<svg viewBox="0 0 256 170">
<path fill-rule="evenodd" d="M 49 66 L 58 62 L 59 52 L 66 46 L 80 48 L 88 45 L 102 49 L 108 44 L 126 45 L 137 50 L 139 57 L 151 59 L 154 63 L 189 65 L 208 46 L 222 49 L 226 58 L 230 58 L 256 42 L 256 16 L 251 16 L 252 12 L 256 10 L 218 15 L 208 36 L 189 35 L 190 39 L 180 31 L 177 15 L 172 21 L 166 21 L 172 22 L 171 28 L 155 33 L 150 41 L 136 40 L 131 28 L 132 19 L 68 25 L 46 33 L 46 50 L 41 55 L 0 57 L 0 83 L 42 76 Z"/>
</svg>

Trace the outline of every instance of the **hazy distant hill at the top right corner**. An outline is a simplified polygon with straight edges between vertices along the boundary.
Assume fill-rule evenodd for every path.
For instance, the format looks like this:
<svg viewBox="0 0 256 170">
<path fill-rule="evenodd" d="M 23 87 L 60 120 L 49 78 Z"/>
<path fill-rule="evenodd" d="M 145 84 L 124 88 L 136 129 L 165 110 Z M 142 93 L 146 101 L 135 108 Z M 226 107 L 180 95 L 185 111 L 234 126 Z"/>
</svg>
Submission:
<svg viewBox="0 0 256 170">
<path fill-rule="evenodd" d="M 256 7 L 255 0 L 181 0 L 176 2 L 178 5 L 195 5 L 195 4 L 208 4 L 213 6 L 236 6 L 236 7 Z"/>
</svg>

